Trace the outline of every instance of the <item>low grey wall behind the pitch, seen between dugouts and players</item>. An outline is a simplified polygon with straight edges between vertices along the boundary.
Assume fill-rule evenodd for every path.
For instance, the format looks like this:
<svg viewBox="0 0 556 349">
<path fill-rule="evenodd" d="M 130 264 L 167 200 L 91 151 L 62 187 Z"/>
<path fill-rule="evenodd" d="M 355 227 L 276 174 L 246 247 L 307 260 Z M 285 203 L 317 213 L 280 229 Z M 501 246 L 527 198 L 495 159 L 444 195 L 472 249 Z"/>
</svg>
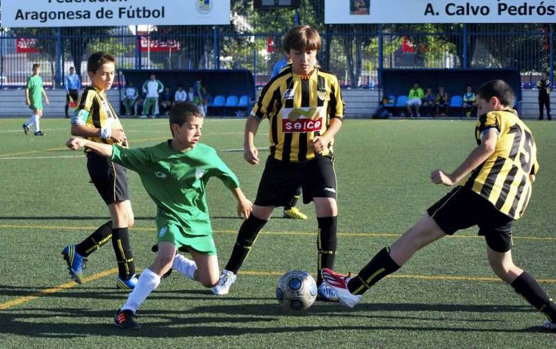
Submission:
<svg viewBox="0 0 556 349">
<path fill-rule="evenodd" d="M 259 93 L 259 92 L 257 92 Z M 342 90 L 345 101 L 346 117 L 370 117 L 378 105 L 378 90 Z M 539 117 L 537 90 L 523 90 L 521 116 L 524 118 Z M 556 93 L 555 93 L 556 94 Z M 47 90 L 50 105 L 44 104 L 44 116 L 64 117 L 65 90 Z M 107 93 L 108 101 L 115 107 L 119 103 L 118 90 Z M 551 108 L 556 108 L 556 97 L 551 99 Z M 0 117 L 28 116 L 31 110 L 25 105 L 25 90 L 0 90 Z"/>
</svg>

